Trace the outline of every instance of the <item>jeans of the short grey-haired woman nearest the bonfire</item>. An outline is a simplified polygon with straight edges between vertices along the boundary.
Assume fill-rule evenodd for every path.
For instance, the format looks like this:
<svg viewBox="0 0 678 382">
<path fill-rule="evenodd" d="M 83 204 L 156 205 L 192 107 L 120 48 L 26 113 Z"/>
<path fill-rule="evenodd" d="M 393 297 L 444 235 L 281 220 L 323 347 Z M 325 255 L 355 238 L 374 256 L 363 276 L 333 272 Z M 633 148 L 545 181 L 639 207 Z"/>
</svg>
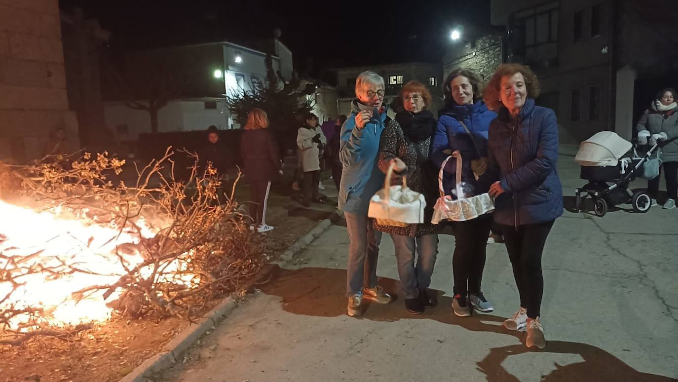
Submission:
<svg viewBox="0 0 678 382">
<path fill-rule="evenodd" d="M 344 212 L 348 229 L 348 267 L 346 268 L 346 293 L 363 295 L 365 288 L 377 286 L 377 258 L 379 257 L 380 231 L 372 227 L 367 214 Z"/>
</svg>

